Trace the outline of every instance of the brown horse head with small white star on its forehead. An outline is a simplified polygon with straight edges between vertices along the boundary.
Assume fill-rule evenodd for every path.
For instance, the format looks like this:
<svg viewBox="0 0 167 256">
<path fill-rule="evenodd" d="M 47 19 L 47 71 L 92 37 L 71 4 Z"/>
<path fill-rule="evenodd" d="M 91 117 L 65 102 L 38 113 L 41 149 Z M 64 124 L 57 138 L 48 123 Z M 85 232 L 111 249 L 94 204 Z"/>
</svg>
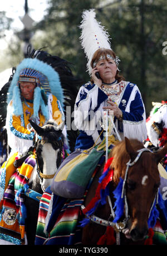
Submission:
<svg viewBox="0 0 167 256">
<path fill-rule="evenodd" d="M 125 138 L 122 143 L 130 159 L 126 163 L 126 170 L 121 173 L 124 179 L 122 191 L 124 190 L 125 212 L 128 212 L 124 231 L 126 237 L 133 241 L 143 240 L 148 234 L 149 217 L 158 197 L 158 163 L 167 152 L 167 144 L 156 153 L 151 153 L 137 140 Z"/>
</svg>

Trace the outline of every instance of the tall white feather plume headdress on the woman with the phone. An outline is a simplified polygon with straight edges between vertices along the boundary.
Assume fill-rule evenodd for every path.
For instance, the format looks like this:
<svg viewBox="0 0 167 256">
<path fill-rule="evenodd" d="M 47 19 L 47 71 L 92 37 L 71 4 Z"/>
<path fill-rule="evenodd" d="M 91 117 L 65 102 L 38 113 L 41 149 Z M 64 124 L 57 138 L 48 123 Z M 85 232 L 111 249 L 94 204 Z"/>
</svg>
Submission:
<svg viewBox="0 0 167 256">
<path fill-rule="evenodd" d="M 82 30 L 80 40 L 81 46 L 85 51 L 87 57 L 87 71 L 91 75 L 91 60 L 96 50 L 111 49 L 109 33 L 105 30 L 104 26 L 101 26 L 101 22 L 97 22 L 96 13 L 94 9 L 84 11 L 82 13 L 82 21 L 79 26 Z M 119 64 L 119 58 L 114 59 L 116 65 Z"/>
</svg>

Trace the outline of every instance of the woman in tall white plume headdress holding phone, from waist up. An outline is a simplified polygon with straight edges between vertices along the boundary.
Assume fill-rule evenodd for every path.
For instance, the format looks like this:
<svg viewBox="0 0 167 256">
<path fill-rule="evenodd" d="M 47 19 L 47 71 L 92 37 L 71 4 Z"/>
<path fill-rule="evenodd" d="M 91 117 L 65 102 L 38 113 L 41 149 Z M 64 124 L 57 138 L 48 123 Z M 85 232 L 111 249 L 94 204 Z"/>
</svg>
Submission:
<svg viewBox="0 0 167 256">
<path fill-rule="evenodd" d="M 105 136 L 106 111 L 114 115 L 117 139 L 147 137 L 145 107 L 139 88 L 119 75 L 119 58 L 111 49 L 109 34 L 96 21 L 95 11 L 82 14 L 81 45 L 87 57 L 90 82 L 80 88 L 75 103 L 75 125 L 80 130 L 76 149 L 88 149 Z M 107 117 L 108 118 L 108 117 Z M 112 121 L 112 120 L 111 120 Z"/>
</svg>

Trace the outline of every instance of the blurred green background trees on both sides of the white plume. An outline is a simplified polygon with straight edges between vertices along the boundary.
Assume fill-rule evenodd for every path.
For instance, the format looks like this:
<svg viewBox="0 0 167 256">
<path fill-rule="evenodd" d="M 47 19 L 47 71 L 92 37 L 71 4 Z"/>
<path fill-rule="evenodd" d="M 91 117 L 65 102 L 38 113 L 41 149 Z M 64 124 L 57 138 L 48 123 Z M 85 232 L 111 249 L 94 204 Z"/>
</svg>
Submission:
<svg viewBox="0 0 167 256">
<path fill-rule="evenodd" d="M 140 88 L 149 115 L 152 101 L 167 99 L 166 0 L 49 0 L 46 16 L 34 28 L 32 45 L 35 49 L 47 46 L 49 53 L 73 63 L 73 74 L 84 82 L 90 78 L 78 25 L 83 10 L 90 8 L 95 8 L 97 20 L 107 28 L 111 47 L 121 59 L 121 74 Z M 10 48 L 13 63 L 21 48 L 15 42 Z"/>
</svg>

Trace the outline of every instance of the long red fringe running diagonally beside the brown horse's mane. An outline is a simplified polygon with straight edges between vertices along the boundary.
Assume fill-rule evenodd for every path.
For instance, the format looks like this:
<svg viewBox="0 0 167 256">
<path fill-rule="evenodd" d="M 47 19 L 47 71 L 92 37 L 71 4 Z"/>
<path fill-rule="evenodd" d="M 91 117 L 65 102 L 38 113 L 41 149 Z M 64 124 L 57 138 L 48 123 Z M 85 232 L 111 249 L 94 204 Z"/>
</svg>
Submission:
<svg viewBox="0 0 167 256">
<path fill-rule="evenodd" d="M 105 164 L 104 167 L 104 172 L 110 167 L 111 163 L 112 163 L 112 159 L 113 158 L 109 158 Z M 103 173 L 104 173 L 103 172 Z M 114 174 L 114 170 L 110 169 L 109 172 L 107 173 L 107 176 L 102 180 L 101 183 L 99 183 L 97 189 L 96 189 L 96 193 L 95 193 L 95 197 L 92 198 L 92 200 L 90 201 L 89 205 L 87 205 L 85 207 L 84 210 L 82 210 L 83 214 L 86 214 L 86 212 L 90 211 L 91 208 L 93 208 L 95 206 L 95 203 L 100 199 L 100 191 L 101 189 L 105 189 L 107 184 L 112 181 L 112 177 Z"/>
</svg>

